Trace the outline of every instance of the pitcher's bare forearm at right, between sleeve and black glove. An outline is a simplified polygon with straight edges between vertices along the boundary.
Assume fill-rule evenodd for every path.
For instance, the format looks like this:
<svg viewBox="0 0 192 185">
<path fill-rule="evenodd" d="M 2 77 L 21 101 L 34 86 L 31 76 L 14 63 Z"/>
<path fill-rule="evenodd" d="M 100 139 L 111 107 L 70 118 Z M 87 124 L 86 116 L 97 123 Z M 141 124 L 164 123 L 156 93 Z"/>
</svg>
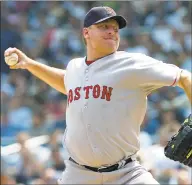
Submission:
<svg viewBox="0 0 192 185">
<path fill-rule="evenodd" d="M 192 78 L 192 75 L 189 71 L 182 70 L 181 76 L 180 76 L 180 79 L 178 82 L 178 86 L 181 87 L 185 91 L 185 93 L 186 93 L 186 95 L 187 95 L 187 97 L 188 97 L 188 99 L 192 105 L 192 93 L 191 93 L 192 82 L 191 82 L 191 78 Z"/>
</svg>

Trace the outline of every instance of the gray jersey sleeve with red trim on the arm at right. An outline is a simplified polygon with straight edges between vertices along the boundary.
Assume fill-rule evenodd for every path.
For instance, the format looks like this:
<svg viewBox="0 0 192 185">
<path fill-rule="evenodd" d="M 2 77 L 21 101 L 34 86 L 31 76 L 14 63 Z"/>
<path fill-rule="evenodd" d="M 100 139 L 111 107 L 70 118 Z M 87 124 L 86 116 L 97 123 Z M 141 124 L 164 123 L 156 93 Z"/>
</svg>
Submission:
<svg viewBox="0 0 192 185">
<path fill-rule="evenodd" d="M 176 86 L 182 69 L 152 57 L 140 54 L 135 62 L 136 79 L 145 91 L 153 91 L 163 86 Z"/>
</svg>

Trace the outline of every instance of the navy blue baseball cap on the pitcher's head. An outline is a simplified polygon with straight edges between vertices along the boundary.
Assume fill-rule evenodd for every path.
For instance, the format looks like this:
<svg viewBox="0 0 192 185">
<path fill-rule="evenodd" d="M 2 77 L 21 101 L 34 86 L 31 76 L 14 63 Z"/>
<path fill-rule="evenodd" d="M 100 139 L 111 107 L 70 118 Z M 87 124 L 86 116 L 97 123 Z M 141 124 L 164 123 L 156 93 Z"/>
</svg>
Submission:
<svg viewBox="0 0 192 185">
<path fill-rule="evenodd" d="M 89 10 L 84 19 L 84 27 L 87 28 L 91 25 L 106 21 L 108 19 L 116 20 L 119 24 L 119 29 L 124 28 L 127 24 L 126 19 L 121 15 L 117 15 L 112 8 L 100 6 Z"/>
</svg>

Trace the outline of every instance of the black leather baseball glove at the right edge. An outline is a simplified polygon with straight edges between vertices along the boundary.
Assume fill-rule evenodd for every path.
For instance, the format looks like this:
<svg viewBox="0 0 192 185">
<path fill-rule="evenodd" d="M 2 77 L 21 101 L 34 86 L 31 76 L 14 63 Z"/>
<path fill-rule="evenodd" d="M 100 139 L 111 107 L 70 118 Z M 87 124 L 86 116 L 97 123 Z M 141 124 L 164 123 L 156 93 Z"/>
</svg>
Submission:
<svg viewBox="0 0 192 185">
<path fill-rule="evenodd" d="M 178 133 L 173 135 L 164 148 L 165 156 L 171 160 L 192 167 L 192 116 L 182 123 Z"/>
</svg>

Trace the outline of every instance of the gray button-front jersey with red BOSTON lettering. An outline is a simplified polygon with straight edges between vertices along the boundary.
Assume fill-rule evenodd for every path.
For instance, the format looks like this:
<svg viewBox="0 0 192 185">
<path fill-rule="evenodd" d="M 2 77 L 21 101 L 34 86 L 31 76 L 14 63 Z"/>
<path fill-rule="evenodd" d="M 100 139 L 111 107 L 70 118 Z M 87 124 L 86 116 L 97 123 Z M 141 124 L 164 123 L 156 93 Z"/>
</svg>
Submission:
<svg viewBox="0 0 192 185">
<path fill-rule="evenodd" d="M 91 65 L 85 59 L 73 59 L 66 69 L 64 144 L 79 164 L 108 166 L 139 150 L 147 95 L 162 86 L 175 86 L 181 69 L 123 51 Z"/>
</svg>

